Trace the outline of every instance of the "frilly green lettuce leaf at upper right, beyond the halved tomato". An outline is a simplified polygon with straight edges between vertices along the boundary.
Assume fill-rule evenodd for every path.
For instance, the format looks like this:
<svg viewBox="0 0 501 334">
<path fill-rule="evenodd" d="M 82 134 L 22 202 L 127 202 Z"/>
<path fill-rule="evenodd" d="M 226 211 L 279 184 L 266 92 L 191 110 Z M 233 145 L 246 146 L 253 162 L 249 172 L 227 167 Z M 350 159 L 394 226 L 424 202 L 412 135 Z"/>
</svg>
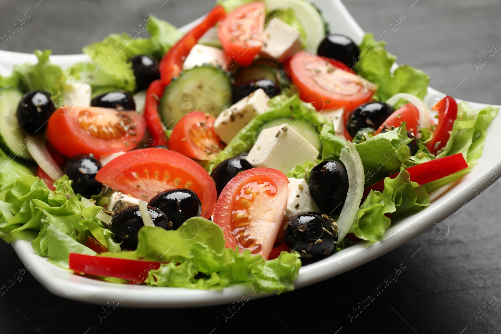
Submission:
<svg viewBox="0 0 501 334">
<path fill-rule="evenodd" d="M 359 61 L 354 70 L 378 87 L 374 99 L 386 101 L 397 93 L 409 93 L 423 99 L 430 78 L 421 70 L 401 65 L 391 73 L 396 57 L 385 50 L 386 43 L 377 42 L 372 34 L 365 34 L 360 45 Z"/>
</svg>

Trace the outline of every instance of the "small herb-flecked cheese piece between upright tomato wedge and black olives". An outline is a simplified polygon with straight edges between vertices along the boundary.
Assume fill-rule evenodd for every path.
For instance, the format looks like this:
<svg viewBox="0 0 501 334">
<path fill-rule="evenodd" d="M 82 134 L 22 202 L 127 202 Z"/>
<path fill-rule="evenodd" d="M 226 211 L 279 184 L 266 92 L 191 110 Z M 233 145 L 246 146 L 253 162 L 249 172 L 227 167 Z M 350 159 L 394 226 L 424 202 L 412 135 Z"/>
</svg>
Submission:
<svg viewBox="0 0 501 334">
<path fill-rule="evenodd" d="M 305 179 L 289 178 L 289 191 L 287 193 L 287 206 L 284 220 L 289 220 L 300 212 L 320 212 L 317 203 L 313 199 L 310 188 Z"/>
</svg>

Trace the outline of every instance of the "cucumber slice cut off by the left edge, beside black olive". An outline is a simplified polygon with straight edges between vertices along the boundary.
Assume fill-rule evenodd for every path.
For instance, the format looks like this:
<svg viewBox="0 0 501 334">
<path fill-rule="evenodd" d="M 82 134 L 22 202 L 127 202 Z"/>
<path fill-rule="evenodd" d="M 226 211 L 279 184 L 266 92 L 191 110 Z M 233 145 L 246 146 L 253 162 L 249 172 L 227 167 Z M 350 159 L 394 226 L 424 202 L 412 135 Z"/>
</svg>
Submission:
<svg viewBox="0 0 501 334">
<path fill-rule="evenodd" d="M 19 127 L 16 111 L 23 93 L 16 88 L 0 89 L 0 148 L 12 156 L 33 160 L 26 149 L 29 140 Z"/>
</svg>

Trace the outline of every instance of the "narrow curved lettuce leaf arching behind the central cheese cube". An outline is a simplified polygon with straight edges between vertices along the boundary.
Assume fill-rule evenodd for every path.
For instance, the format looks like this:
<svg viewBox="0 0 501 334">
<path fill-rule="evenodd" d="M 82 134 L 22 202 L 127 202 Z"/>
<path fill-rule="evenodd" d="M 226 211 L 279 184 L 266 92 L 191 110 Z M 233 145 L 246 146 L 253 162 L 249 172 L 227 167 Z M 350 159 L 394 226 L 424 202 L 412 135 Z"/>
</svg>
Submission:
<svg viewBox="0 0 501 334">
<path fill-rule="evenodd" d="M 256 116 L 236 136 L 228 143 L 228 145 L 217 154 L 217 156 L 206 165 L 206 170 L 210 173 L 221 161 L 232 158 L 242 152 L 249 151 L 255 141 L 256 134 L 259 128 L 276 118 L 290 117 L 293 119 L 304 119 L 317 127 L 320 131 L 322 124 L 326 121 L 318 113 L 312 112 L 306 108 L 305 104 L 297 95 L 287 98 L 285 101 L 274 105 L 269 111 Z"/>
</svg>

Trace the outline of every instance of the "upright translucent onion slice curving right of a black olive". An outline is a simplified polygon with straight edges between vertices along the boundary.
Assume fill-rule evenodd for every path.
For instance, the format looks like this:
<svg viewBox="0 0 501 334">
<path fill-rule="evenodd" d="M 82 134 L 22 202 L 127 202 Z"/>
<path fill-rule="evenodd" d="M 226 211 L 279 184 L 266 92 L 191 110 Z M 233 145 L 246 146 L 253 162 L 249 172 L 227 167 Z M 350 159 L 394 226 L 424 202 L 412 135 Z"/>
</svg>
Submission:
<svg viewBox="0 0 501 334">
<path fill-rule="evenodd" d="M 350 230 L 357 215 L 364 194 L 364 167 L 354 144 L 347 142 L 347 148 L 341 149 L 340 160 L 345 165 L 348 174 L 348 193 L 345 204 L 339 215 L 338 242 L 341 242 Z"/>
</svg>

